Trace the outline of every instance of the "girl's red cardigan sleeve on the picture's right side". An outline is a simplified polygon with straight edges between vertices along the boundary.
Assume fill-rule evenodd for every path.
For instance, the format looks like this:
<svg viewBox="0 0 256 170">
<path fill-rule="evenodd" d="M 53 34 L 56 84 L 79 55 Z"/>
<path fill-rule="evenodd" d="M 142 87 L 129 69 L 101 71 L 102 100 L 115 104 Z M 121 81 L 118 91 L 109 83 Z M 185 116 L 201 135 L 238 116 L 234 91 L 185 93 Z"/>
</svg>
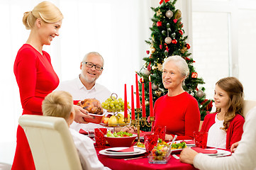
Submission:
<svg viewBox="0 0 256 170">
<path fill-rule="evenodd" d="M 230 129 L 230 141 L 226 144 L 227 149 L 230 149 L 231 145 L 233 143 L 238 142 L 241 140 L 241 137 L 243 135 L 243 124 L 245 123 L 245 119 L 242 116 L 237 116 L 234 122 L 232 123 L 232 129 Z"/>
</svg>

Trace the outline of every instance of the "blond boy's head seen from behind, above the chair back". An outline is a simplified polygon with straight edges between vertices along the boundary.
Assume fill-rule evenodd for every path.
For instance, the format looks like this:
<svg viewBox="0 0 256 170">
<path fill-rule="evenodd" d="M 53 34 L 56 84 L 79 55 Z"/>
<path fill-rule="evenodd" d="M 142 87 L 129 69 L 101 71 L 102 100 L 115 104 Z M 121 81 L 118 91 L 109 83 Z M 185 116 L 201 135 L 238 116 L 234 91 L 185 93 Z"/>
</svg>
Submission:
<svg viewBox="0 0 256 170">
<path fill-rule="evenodd" d="M 43 115 L 64 118 L 68 125 L 74 120 L 74 107 L 71 94 L 67 91 L 53 91 L 42 104 Z"/>
</svg>

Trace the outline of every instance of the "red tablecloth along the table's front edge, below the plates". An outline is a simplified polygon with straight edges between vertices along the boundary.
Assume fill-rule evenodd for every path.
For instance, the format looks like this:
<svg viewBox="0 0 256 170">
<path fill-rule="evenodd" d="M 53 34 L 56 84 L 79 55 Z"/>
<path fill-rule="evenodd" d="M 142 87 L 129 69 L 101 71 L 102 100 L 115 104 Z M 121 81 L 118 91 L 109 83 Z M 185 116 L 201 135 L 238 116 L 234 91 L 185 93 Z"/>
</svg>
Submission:
<svg viewBox="0 0 256 170">
<path fill-rule="evenodd" d="M 180 162 L 179 159 L 174 158 L 173 155 L 170 157 L 169 162 L 167 162 L 167 164 L 150 164 L 148 162 L 148 157 L 146 153 L 141 155 L 136 155 L 136 157 L 140 157 L 139 159 L 128 159 L 128 160 L 126 160 L 126 158 L 108 157 L 106 155 L 99 153 L 102 149 L 106 149 L 106 148 L 107 146 L 105 148 L 95 147 L 99 161 L 102 164 L 104 164 L 104 166 L 107 166 L 108 168 L 113 170 L 115 169 L 116 170 L 118 169 L 122 169 L 122 170 L 126 170 L 126 169 L 127 170 L 131 170 L 131 169 L 139 169 L 139 170 L 196 169 L 191 164 L 185 164 Z M 179 154 L 177 154 L 177 156 L 179 156 Z"/>
</svg>

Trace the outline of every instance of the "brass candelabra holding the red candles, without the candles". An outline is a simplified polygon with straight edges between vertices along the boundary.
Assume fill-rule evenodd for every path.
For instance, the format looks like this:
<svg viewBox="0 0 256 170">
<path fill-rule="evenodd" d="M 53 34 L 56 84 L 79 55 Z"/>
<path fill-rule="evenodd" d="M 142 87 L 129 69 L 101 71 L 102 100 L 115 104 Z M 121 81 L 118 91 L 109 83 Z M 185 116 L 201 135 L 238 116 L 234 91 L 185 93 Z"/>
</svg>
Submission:
<svg viewBox="0 0 256 170">
<path fill-rule="evenodd" d="M 137 128 L 137 133 L 138 133 L 138 142 L 135 143 L 135 145 L 139 146 L 141 145 L 140 143 L 140 126 L 141 127 L 151 127 L 152 126 L 152 122 L 155 121 L 155 117 L 151 117 L 150 116 L 150 122 L 147 121 L 146 117 L 142 117 L 140 118 L 140 113 L 141 113 L 141 108 L 136 108 L 136 112 L 137 112 L 137 119 L 135 120 L 131 120 L 130 125 Z"/>
</svg>

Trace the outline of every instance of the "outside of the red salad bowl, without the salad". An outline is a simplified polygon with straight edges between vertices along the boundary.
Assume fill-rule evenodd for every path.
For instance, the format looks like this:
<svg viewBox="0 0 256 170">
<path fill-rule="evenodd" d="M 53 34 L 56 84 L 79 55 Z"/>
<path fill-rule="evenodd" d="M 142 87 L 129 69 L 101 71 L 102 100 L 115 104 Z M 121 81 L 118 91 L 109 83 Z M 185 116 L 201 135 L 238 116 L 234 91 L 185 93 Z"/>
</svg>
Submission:
<svg viewBox="0 0 256 170">
<path fill-rule="evenodd" d="M 135 134 L 130 137 L 107 137 L 105 135 L 106 141 L 111 147 L 130 147 L 136 137 Z"/>
</svg>

